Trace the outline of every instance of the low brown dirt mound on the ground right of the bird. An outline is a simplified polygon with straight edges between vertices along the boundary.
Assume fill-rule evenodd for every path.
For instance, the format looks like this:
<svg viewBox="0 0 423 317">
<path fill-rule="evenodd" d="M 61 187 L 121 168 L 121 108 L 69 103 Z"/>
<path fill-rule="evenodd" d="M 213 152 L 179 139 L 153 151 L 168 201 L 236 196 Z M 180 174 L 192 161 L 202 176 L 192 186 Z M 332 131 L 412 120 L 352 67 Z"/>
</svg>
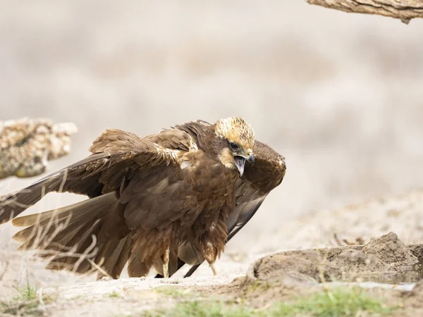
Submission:
<svg viewBox="0 0 423 317">
<path fill-rule="evenodd" d="M 417 247 L 406 246 L 393 232 L 365 246 L 287 251 L 255 261 L 247 279 L 296 285 L 330 281 L 389 282 L 419 275 Z M 400 275 L 400 277 L 399 277 Z"/>
</svg>

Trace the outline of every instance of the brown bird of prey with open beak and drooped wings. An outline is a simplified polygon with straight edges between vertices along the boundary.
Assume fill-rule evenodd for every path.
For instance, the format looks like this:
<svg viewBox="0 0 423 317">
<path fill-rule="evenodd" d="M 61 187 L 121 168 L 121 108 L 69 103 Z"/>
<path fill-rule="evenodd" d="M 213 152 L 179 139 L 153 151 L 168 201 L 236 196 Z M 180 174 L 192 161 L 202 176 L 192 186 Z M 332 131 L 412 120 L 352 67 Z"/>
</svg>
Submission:
<svg viewBox="0 0 423 317">
<path fill-rule="evenodd" d="M 285 175 L 283 156 L 240 117 L 202 120 L 141 138 L 106 130 L 86 159 L 0 197 L 0 223 L 26 227 L 19 249 L 48 269 L 168 278 L 183 263 L 214 262 Z M 48 192 L 87 199 L 16 218 Z M 89 250 L 89 251 L 87 251 Z"/>
</svg>

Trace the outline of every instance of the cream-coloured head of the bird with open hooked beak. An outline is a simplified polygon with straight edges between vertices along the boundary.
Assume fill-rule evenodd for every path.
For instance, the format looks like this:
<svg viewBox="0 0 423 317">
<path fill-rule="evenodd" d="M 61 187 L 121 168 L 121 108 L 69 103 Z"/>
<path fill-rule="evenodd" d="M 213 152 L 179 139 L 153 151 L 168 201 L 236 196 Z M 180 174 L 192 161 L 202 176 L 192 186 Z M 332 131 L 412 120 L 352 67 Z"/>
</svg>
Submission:
<svg viewBox="0 0 423 317">
<path fill-rule="evenodd" d="M 238 169 L 243 176 L 245 161 L 254 164 L 254 130 L 240 117 L 221 119 L 215 127 L 216 150 L 221 163 L 227 168 Z"/>
</svg>

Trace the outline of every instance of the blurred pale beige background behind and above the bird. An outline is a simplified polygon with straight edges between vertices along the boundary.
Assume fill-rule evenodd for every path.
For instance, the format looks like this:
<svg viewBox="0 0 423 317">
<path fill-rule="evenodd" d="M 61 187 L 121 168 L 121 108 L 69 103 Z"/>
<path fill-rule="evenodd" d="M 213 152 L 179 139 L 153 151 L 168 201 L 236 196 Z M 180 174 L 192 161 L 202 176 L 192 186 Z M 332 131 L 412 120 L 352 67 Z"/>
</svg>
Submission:
<svg viewBox="0 0 423 317">
<path fill-rule="evenodd" d="M 422 34 L 422 20 L 300 0 L 1 1 L 0 120 L 75 123 L 54 171 L 106 128 L 144 136 L 243 116 L 288 168 L 228 247 L 248 252 L 299 217 L 422 187 Z M 3 249 L 13 232 L 0 227 Z"/>
</svg>

